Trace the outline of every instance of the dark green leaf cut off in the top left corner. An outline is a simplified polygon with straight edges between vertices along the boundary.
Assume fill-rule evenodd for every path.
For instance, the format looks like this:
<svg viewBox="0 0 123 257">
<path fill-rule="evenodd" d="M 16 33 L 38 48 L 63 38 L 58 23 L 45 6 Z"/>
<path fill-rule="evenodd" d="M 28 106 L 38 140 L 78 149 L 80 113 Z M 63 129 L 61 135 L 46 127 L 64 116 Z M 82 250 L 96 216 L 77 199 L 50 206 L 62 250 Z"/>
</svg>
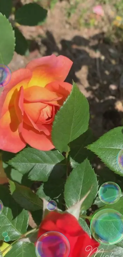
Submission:
<svg viewBox="0 0 123 257">
<path fill-rule="evenodd" d="M 0 0 L 0 13 L 9 18 L 12 10 L 12 0 Z"/>
</svg>

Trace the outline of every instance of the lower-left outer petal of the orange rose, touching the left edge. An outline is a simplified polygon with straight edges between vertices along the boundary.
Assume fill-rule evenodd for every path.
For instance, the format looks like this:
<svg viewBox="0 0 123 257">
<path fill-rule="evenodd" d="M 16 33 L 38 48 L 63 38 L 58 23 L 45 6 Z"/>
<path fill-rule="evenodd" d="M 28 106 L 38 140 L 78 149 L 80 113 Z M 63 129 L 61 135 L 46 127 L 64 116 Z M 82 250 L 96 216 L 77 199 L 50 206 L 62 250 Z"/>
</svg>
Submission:
<svg viewBox="0 0 123 257">
<path fill-rule="evenodd" d="M 0 119 L 0 149 L 17 153 L 26 146 L 26 142 L 18 132 L 20 122 L 15 109 L 10 108 Z"/>
</svg>

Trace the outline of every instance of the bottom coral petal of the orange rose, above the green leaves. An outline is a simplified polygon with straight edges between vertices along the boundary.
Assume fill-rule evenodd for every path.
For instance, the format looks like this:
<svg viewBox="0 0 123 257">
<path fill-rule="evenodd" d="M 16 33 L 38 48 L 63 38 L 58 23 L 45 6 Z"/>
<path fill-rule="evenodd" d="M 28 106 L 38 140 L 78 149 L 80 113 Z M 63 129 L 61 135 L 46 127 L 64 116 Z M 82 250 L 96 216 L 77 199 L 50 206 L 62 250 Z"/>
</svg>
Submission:
<svg viewBox="0 0 123 257">
<path fill-rule="evenodd" d="M 21 134 L 25 142 L 33 148 L 41 151 L 49 151 L 54 148 L 51 142 L 51 135 L 47 136 L 42 131 L 39 132 L 25 123 Z"/>
</svg>

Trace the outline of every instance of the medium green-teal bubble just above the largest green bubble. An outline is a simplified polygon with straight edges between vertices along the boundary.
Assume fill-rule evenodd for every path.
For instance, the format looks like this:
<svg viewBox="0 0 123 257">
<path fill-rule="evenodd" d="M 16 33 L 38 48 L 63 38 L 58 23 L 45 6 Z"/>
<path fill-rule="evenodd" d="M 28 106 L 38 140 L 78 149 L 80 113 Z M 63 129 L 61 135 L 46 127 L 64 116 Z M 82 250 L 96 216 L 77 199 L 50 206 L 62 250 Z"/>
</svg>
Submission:
<svg viewBox="0 0 123 257">
<path fill-rule="evenodd" d="M 106 182 L 99 188 L 99 199 L 106 204 L 118 202 L 121 197 L 121 189 L 114 182 Z"/>
</svg>

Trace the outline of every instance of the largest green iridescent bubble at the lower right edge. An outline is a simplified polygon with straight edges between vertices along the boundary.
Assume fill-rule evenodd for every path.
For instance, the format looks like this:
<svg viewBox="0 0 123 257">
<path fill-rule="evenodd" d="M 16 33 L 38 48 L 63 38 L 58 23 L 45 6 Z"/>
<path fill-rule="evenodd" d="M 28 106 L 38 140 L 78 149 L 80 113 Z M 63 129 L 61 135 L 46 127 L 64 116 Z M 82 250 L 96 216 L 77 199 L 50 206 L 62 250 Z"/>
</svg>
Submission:
<svg viewBox="0 0 123 257">
<path fill-rule="evenodd" d="M 92 217 L 90 229 L 100 244 L 117 244 L 123 239 L 123 215 L 113 209 L 100 210 Z"/>
</svg>

